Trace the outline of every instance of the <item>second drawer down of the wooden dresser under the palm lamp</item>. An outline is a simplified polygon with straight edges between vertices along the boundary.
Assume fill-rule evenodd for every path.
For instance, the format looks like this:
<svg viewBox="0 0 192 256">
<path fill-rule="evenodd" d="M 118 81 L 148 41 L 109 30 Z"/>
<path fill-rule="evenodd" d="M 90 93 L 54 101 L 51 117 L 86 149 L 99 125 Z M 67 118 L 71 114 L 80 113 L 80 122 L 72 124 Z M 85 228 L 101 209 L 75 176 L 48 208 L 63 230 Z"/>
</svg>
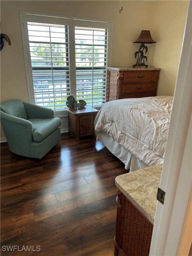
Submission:
<svg viewBox="0 0 192 256">
<path fill-rule="evenodd" d="M 155 83 L 148 84 L 124 84 L 123 93 L 130 92 L 150 92 L 155 90 Z"/>
</svg>

